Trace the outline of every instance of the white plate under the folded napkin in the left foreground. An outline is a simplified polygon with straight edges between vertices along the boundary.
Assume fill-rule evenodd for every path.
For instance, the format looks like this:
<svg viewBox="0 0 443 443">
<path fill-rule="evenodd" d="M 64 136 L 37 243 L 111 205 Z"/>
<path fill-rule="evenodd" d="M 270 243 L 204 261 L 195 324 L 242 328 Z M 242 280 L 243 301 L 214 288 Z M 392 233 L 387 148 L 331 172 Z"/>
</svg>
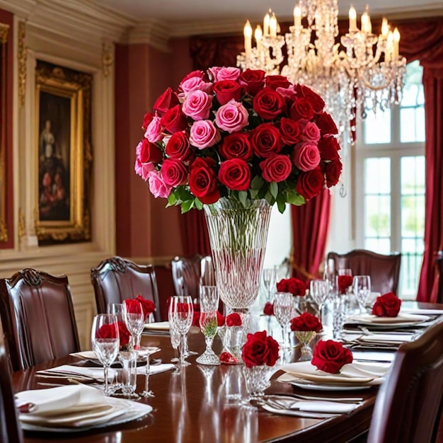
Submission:
<svg viewBox="0 0 443 443">
<path fill-rule="evenodd" d="M 25 431 L 33 432 L 84 432 L 87 430 L 100 429 L 102 427 L 109 427 L 115 425 L 122 425 L 123 423 L 131 422 L 132 420 L 138 420 L 151 413 L 152 406 L 146 405 L 144 403 L 137 403 L 129 400 L 122 400 L 121 398 L 110 398 L 112 403 L 115 405 L 121 404 L 122 402 L 130 405 L 130 410 L 127 413 L 118 415 L 115 418 L 111 418 L 105 422 L 98 421 L 96 424 L 90 424 L 80 427 L 62 427 L 62 426 L 44 426 L 44 425 L 32 425 L 30 423 L 21 422 L 21 427 Z"/>
</svg>

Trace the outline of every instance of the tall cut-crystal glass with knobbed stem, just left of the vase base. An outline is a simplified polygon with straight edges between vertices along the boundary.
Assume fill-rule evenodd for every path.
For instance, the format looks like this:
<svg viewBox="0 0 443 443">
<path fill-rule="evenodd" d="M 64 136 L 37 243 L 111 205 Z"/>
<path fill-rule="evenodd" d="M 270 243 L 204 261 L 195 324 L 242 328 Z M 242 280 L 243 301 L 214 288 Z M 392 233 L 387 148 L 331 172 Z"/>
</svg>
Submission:
<svg viewBox="0 0 443 443">
<path fill-rule="evenodd" d="M 220 359 L 212 350 L 212 343 L 217 334 L 217 309 L 219 293 L 217 286 L 200 286 L 200 330 L 205 335 L 206 350 L 197 358 L 200 364 L 220 364 Z"/>
</svg>

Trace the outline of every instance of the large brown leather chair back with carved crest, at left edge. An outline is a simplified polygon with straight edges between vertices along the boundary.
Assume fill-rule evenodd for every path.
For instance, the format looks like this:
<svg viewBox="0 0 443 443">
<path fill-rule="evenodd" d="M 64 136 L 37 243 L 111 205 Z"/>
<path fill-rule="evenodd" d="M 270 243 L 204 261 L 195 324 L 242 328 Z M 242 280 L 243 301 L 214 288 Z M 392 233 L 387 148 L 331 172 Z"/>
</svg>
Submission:
<svg viewBox="0 0 443 443">
<path fill-rule="evenodd" d="M 64 275 L 26 268 L 1 279 L 0 316 L 14 371 L 80 350 Z"/>
</svg>

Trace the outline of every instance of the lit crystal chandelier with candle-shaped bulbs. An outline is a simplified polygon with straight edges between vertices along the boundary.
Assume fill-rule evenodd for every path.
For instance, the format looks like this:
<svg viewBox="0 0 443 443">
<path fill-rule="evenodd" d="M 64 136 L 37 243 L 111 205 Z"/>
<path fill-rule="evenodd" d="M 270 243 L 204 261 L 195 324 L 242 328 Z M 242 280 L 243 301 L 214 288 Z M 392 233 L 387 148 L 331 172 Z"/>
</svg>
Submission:
<svg viewBox="0 0 443 443">
<path fill-rule="evenodd" d="M 307 28 L 302 24 L 305 17 Z M 294 25 L 283 37 L 275 14 L 269 11 L 263 29 L 255 28 L 255 47 L 251 24 L 246 22 L 245 50 L 238 54 L 237 66 L 282 74 L 294 84 L 311 87 L 325 100 L 342 141 L 353 143 L 357 115 L 364 118 L 368 110 L 384 110 L 400 102 L 406 60 L 398 54 L 400 33 L 390 29 L 386 18 L 380 35 L 372 33 L 368 7 L 361 29 L 353 6 L 349 22 L 349 31 L 336 42 L 338 0 L 300 0 L 294 7 Z M 287 64 L 281 66 L 285 43 Z"/>
</svg>

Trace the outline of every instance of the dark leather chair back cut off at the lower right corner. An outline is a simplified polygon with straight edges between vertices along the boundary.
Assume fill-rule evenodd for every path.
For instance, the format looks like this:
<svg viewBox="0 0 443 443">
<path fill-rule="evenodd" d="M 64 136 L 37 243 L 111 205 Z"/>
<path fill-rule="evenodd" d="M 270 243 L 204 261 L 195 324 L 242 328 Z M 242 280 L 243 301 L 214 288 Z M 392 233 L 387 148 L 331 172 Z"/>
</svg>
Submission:
<svg viewBox="0 0 443 443">
<path fill-rule="evenodd" d="M 443 319 L 398 348 L 376 397 L 368 443 L 436 442 L 443 406 Z"/>
</svg>

